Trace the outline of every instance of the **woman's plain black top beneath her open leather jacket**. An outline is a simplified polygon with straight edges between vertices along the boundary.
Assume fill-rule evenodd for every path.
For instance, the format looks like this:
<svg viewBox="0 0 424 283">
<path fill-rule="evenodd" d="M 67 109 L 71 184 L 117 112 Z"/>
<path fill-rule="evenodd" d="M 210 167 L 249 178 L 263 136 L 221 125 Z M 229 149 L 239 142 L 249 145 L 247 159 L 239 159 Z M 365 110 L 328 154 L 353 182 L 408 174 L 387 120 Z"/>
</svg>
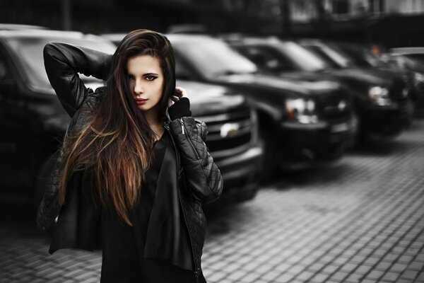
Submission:
<svg viewBox="0 0 424 283">
<path fill-rule="evenodd" d="M 130 212 L 133 226 L 124 224 L 114 209 L 102 208 L 102 283 L 177 282 L 177 278 L 191 282 L 189 234 L 177 185 L 170 178 L 177 174 L 174 155 L 171 137 L 165 132 L 155 142 L 139 204 Z"/>
</svg>

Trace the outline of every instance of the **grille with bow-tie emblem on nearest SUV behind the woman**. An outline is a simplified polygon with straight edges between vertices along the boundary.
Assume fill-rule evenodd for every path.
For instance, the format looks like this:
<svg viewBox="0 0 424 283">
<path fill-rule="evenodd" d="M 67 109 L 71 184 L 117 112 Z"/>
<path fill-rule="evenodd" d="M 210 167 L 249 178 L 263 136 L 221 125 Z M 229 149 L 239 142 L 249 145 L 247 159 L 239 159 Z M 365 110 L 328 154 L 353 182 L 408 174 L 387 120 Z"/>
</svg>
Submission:
<svg viewBox="0 0 424 283">
<path fill-rule="evenodd" d="M 257 132 L 256 116 L 248 107 L 196 118 L 208 126 L 206 146 L 213 158 L 245 151 Z"/>
</svg>

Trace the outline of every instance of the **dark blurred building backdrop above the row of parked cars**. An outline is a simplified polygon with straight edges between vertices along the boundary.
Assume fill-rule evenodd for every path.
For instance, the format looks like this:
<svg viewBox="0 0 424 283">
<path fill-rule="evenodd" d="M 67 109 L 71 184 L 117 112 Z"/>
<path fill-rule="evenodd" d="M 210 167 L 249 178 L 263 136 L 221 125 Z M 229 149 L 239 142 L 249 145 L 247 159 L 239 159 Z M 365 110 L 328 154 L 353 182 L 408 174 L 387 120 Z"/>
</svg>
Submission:
<svg viewBox="0 0 424 283">
<path fill-rule="evenodd" d="M 0 23 L 86 33 L 166 32 L 320 37 L 388 47 L 424 45 L 424 0 L 0 0 Z"/>
</svg>

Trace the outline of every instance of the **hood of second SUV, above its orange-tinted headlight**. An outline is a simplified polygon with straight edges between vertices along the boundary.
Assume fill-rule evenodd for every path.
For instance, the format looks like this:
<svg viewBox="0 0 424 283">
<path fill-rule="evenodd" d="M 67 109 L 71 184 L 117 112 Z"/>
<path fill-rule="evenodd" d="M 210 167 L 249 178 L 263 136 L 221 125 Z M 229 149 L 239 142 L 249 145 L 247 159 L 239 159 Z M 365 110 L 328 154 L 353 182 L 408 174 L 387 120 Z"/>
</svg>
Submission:
<svg viewBox="0 0 424 283">
<path fill-rule="evenodd" d="M 262 88 L 274 88 L 302 95 L 319 95 L 341 88 L 340 84 L 328 80 L 307 80 L 296 77 L 279 77 L 259 74 L 237 74 L 231 76 L 220 76 L 220 81 L 237 83 Z"/>
</svg>

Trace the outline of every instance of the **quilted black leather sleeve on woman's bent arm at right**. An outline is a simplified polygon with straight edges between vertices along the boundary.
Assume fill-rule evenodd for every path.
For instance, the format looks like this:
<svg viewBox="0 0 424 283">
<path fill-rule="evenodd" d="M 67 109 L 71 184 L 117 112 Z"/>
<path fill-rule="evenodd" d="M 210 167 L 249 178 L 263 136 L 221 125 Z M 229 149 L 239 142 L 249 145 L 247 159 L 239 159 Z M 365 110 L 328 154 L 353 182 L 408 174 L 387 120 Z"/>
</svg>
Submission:
<svg viewBox="0 0 424 283">
<path fill-rule="evenodd" d="M 204 143 L 206 124 L 193 117 L 182 117 L 173 120 L 170 129 L 194 197 L 200 202 L 218 199 L 223 191 L 223 177 Z"/>
</svg>

